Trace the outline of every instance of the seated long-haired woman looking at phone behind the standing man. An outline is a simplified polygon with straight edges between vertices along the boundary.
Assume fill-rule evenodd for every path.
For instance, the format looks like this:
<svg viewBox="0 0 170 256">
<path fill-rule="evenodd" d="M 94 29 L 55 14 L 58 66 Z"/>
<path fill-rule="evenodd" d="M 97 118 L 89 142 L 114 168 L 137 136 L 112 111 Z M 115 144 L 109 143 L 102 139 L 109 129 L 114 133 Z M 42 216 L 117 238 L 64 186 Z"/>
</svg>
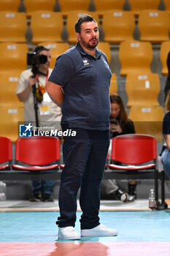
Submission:
<svg viewBox="0 0 170 256">
<path fill-rule="evenodd" d="M 125 135 L 128 133 L 135 133 L 134 123 L 128 118 L 128 114 L 125 111 L 123 100 L 120 95 L 110 95 L 111 114 L 110 114 L 110 138 L 114 138 L 117 135 Z M 110 151 L 111 151 L 110 145 Z M 101 182 L 101 190 L 104 190 L 105 199 L 117 199 L 122 202 L 133 201 L 136 197 L 136 181 L 128 182 L 128 192 L 123 192 L 117 186 L 115 180 L 103 180 Z"/>
</svg>

